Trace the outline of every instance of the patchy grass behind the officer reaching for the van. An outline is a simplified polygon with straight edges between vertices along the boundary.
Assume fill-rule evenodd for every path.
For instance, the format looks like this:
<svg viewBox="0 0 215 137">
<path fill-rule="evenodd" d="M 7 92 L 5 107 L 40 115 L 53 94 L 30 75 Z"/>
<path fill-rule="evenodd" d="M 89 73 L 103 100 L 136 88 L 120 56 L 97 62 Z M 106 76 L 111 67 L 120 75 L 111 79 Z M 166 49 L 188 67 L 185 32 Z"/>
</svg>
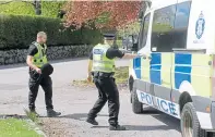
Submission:
<svg viewBox="0 0 215 137">
<path fill-rule="evenodd" d="M 126 84 L 129 77 L 129 67 L 120 66 L 116 67 L 115 78 L 117 84 Z M 74 86 L 91 86 L 93 83 L 88 83 L 86 79 L 73 80 L 72 85 Z"/>
</svg>

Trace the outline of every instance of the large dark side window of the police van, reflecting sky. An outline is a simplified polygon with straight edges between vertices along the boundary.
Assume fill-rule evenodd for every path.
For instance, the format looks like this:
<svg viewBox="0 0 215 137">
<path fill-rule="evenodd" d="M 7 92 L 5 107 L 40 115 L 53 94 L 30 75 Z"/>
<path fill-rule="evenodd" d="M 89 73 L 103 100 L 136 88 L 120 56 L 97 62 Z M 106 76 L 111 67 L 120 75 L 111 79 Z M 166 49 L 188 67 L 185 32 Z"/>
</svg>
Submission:
<svg viewBox="0 0 215 137">
<path fill-rule="evenodd" d="M 182 2 L 154 12 L 151 47 L 156 52 L 171 52 L 187 47 L 191 2 Z"/>
</svg>

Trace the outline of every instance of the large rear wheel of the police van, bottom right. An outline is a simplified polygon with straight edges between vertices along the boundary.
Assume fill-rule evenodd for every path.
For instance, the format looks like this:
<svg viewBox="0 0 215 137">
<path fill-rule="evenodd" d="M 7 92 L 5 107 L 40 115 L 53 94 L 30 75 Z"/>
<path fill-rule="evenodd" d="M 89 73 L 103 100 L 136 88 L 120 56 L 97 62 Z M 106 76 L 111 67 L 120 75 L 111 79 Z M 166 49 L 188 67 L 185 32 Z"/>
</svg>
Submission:
<svg viewBox="0 0 215 137">
<path fill-rule="evenodd" d="M 181 113 L 182 137 L 206 137 L 206 132 L 201 128 L 192 102 L 186 103 Z"/>
</svg>

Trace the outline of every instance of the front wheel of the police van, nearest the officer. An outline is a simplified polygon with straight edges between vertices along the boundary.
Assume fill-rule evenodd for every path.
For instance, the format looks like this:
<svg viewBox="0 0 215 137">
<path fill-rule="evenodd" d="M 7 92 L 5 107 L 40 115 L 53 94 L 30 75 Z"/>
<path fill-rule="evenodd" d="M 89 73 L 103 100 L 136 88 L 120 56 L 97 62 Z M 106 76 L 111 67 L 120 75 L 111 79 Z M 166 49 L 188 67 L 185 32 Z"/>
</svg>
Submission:
<svg viewBox="0 0 215 137">
<path fill-rule="evenodd" d="M 131 100 L 132 100 L 132 110 L 135 114 L 140 114 L 143 112 L 143 104 L 138 99 L 136 89 L 133 87 L 131 92 Z"/>
</svg>

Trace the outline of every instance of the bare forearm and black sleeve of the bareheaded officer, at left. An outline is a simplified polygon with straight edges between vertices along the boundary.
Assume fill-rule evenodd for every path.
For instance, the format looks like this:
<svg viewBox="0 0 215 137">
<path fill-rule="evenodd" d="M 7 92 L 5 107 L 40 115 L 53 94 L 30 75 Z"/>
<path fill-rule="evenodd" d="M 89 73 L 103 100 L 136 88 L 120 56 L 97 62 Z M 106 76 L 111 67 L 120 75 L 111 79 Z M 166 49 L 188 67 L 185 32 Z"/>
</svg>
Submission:
<svg viewBox="0 0 215 137">
<path fill-rule="evenodd" d="M 33 70 L 37 70 L 38 67 L 36 65 L 33 64 L 33 57 L 38 52 L 37 48 L 34 45 L 29 46 L 28 49 L 28 53 L 27 53 L 27 59 L 26 59 L 26 63 L 27 65 L 33 68 Z"/>
</svg>

